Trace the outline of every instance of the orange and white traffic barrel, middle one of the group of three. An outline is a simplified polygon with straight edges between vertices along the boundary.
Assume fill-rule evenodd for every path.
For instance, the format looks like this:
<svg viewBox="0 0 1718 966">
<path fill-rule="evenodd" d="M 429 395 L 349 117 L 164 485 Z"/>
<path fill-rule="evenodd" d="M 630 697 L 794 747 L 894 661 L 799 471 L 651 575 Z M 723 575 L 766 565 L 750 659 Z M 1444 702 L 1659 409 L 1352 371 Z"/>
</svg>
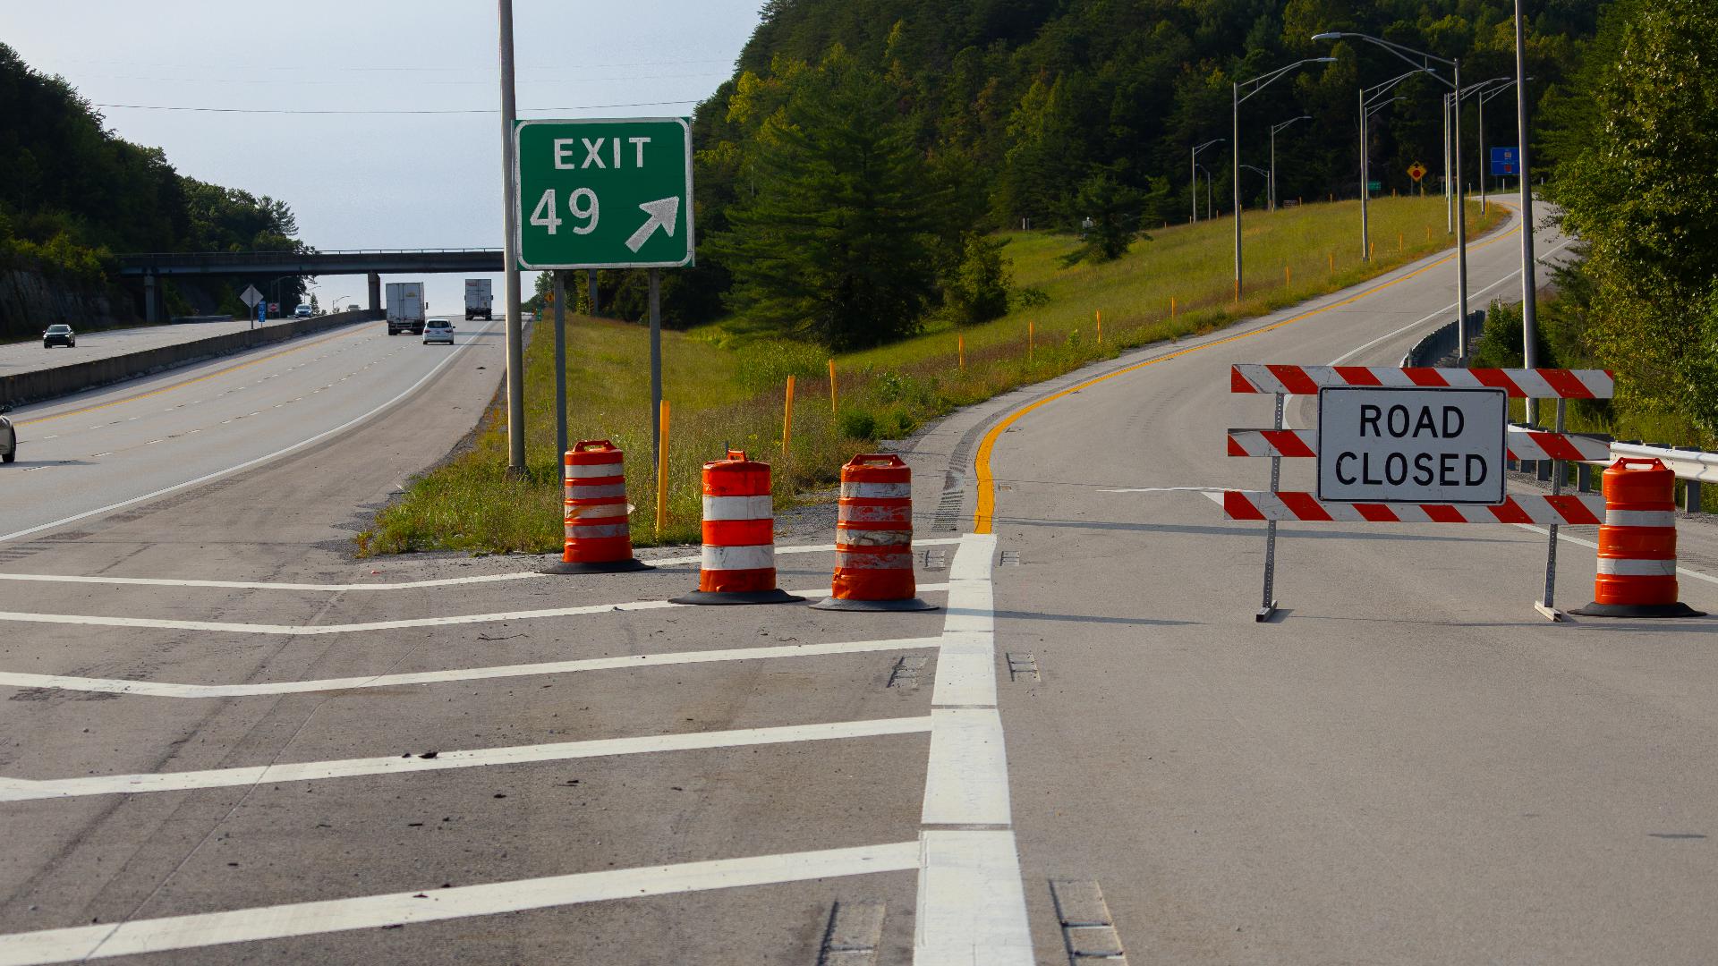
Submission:
<svg viewBox="0 0 1718 966">
<path fill-rule="evenodd" d="M 775 511 L 770 464 L 728 450 L 704 464 L 704 555 L 698 590 L 673 603 L 792 603 L 775 586 Z"/>
</svg>

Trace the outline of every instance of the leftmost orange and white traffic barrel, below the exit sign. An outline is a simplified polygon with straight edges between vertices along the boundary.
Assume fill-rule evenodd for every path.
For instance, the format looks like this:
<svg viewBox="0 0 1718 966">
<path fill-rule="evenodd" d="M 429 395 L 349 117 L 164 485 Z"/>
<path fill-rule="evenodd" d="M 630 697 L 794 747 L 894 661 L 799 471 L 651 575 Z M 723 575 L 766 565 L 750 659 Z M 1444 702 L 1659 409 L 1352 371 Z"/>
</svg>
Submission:
<svg viewBox="0 0 1718 966">
<path fill-rule="evenodd" d="M 545 574 L 615 574 L 646 571 L 632 557 L 627 526 L 625 454 L 608 440 L 579 440 L 562 454 L 562 524 L 558 564 Z"/>
</svg>

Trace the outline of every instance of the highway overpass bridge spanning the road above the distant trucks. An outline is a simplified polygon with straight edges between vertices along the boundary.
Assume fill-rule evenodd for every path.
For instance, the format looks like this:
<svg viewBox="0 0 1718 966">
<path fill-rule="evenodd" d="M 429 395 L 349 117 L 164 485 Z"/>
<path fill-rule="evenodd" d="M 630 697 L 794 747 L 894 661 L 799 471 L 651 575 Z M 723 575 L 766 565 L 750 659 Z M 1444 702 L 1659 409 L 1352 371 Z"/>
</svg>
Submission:
<svg viewBox="0 0 1718 966">
<path fill-rule="evenodd" d="M 369 308 L 381 308 L 381 273 L 502 272 L 498 248 L 361 251 L 175 251 L 119 256 L 120 277 L 143 278 L 146 321 L 160 321 L 163 275 L 368 275 Z"/>
</svg>

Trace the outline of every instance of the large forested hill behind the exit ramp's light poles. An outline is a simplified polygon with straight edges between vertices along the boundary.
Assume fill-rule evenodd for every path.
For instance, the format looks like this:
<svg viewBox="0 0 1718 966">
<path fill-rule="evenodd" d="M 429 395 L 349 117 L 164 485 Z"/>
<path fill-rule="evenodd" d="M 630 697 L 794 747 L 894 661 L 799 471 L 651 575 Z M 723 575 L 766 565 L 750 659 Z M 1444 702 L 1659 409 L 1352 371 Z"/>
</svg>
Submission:
<svg viewBox="0 0 1718 966">
<path fill-rule="evenodd" d="M 1534 100 L 1577 69 L 1599 7 L 1599 0 L 1529 2 Z M 802 272 L 777 260 L 756 268 L 768 248 L 759 248 L 768 241 L 759 237 L 759 217 L 771 205 L 775 217 L 785 217 L 794 191 L 783 179 L 819 177 L 807 172 L 828 177 L 795 189 L 802 199 L 838 196 L 828 179 L 840 180 L 859 156 L 854 151 L 917 153 L 897 158 L 905 165 L 897 194 L 902 210 L 933 215 L 938 237 L 923 254 L 938 278 L 914 282 L 931 311 L 947 306 L 950 284 L 971 263 L 974 232 L 1017 227 L 1022 218 L 1034 229 L 1069 227 L 1094 211 L 1125 213 L 1132 229 L 1144 230 L 1184 222 L 1189 150 L 1230 138 L 1230 84 L 1309 57 L 1337 60 L 1292 70 L 1242 105 L 1240 162 L 1268 167 L 1268 127 L 1309 115 L 1276 138 L 1278 196 L 1356 198 L 1357 91 L 1412 67 L 1364 41 L 1313 34 L 1357 31 L 1459 57 L 1464 83 L 1472 83 L 1514 76 L 1512 10 L 1500 0 L 770 0 L 735 76 L 696 113 L 699 235 L 711 244 L 699 248 L 699 270 L 675 280 L 672 311 L 680 323 L 725 311 L 752 321 L 807 311 L 804 294 L 787 292 L 794 297 L 777 304 L 761 297 L 770 287 L 782 294 Z M 1397 89 L 1402 100 L 1376 117 L 1371 172 L 1381 191 L 1409 191 L 1412 162 L 1431 170 L 1428 191 L 1438 189 L 1447 89 L 1435 77 L 1414 77 Z M 871 112 L 878 100 L 886 110 Z M 1472 107 L 1476 98 L 1464 119 L 1469 182 L 1479 162 Z M 873 143 L 850 124 L 856 115 L 886 124 L 888 136 Z M 819 117 L 832 127 L 807 127 L 823 124 Z M 1514 98 L 1498 98 L 1484 125 L 1486 144 L 1514 144 Z M 802 138 L 797 146 L 795 138 Z M 845 160 L 818 155 L 844 139 Z M 1225 143 L 1199 156 L 1215 179 L 1218 213 L 1232 208 L 1228 151 Z M 931 191 L 911 191 L 912 177 Z M 854 198 L 864 194 L 862 180 L 849 186 L 859 191 Z M 1264 186 L 1263 175 L 1242 168 L 1247 206 L 1264 203 Z M 735 270 L 749 277 L 734 277 Z M 907 299 L 890 311 L 914 304 Z M 802 328 L 828 337 L 826 325 Z"/>
</svg>

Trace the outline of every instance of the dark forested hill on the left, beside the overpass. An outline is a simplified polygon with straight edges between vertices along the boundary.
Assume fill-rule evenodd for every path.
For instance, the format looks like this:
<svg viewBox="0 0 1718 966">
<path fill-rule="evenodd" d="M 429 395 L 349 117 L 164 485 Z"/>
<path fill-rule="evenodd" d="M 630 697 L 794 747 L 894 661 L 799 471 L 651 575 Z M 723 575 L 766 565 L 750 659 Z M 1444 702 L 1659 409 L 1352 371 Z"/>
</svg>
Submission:
<svg viewBox="0 0 1718 966">
<path fill-rule="evenodd" d="M 108 131 L 64 77 L 33 70 L 3 43 L 0 105 L 0 270 L 40 273 L 50 290 L 94 292 L 96 301 L 110 296 L 110 321 L 132 315 L 129 296 L 113 280 L 113 253 L 301 244 L 283 201 L 180 175 L 160 148 Z M 40 292 L 41 285 L 29 289 Z M 227 289 L 230 284 L 203 294 L 208 304 L 201 308 L 228 303 L 220 311 L 242 313 L 242 303 L 228 299 Z M 297 290 L 285 289 L 283 297 L 297 297 Z M 168 289 L 167 299 L 172 311 L 192 308 L 177 289 Z M 55 309 L 34 303 L 31 308 L 22 296 L 0 297 L 0 335 L 33 335 L 46 323 L 70 321 L 40 318 Z M 31 318 L 12 318 L 24 315 Z"/>
</svg>

